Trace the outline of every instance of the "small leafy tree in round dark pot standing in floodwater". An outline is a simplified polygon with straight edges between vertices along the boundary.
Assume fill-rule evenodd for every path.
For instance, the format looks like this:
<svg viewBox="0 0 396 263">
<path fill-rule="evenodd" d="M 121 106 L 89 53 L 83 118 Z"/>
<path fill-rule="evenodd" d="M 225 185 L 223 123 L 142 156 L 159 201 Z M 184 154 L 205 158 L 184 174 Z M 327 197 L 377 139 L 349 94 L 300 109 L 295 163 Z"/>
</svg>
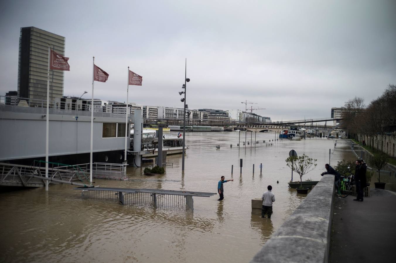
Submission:
<svg viewBox="0 0 396 263">
<path fill-rule="evenodd" d="M 308 188 L 303 188 L 303 175 L 312 171 L 316 167 L 316 159 L 309 158 L 308 155 L 289 156 L 286 159 L 286 165 L 300 176 L 300 187 L 297 187 L 297 193 L 308 193 Z"/>
</svg>

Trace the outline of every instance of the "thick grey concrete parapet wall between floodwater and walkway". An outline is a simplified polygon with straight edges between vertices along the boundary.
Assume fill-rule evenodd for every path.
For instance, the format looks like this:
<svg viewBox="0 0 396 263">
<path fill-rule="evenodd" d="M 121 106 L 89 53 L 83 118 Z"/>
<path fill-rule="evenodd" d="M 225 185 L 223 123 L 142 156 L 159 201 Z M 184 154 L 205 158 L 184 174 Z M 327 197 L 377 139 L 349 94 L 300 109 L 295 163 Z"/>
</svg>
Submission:
<svg viewBox="0 0 396 263">
<path fill-rule="evenodd" d="M 333 198 L 325 175 L 250 262 L 328 262 Z"/>
</svg>

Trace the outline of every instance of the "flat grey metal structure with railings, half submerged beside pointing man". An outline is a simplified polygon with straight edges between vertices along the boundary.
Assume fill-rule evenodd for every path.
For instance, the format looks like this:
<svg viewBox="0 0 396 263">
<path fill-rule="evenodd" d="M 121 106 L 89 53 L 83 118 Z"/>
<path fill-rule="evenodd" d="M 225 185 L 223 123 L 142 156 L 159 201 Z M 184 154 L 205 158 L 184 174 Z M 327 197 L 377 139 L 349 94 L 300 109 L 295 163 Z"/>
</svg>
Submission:
<svg viewBox="0 0 396 263">
<path fill-rule="evenodd" d="M 211 197 L 217 193 L 190 192 L 162 189 L 131 189 L 131 188 L 109 188 L 109 187 L 76 187 L 82 190 L 83 198 L 113 199 L 123 205 L 150 205 L 156 209 L 170 207 L 187 207 L 194 210 L 195 197 Z"/>
</svg>

